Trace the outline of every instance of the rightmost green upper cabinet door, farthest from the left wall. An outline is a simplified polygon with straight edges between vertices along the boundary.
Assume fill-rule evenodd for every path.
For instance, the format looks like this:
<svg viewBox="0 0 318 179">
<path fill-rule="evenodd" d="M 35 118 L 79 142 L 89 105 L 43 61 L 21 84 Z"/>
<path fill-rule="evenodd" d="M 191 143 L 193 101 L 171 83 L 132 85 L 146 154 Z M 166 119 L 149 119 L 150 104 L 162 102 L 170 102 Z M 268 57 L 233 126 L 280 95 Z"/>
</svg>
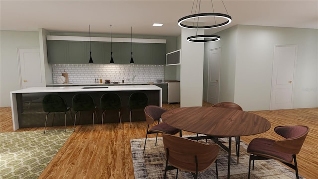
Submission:
<svg viewBox="0 0 318 179">
<path fill-rule="evenodd" d="M 151 64 L 165 64 L 165 44 L 151 44 Z"/>
</svg>

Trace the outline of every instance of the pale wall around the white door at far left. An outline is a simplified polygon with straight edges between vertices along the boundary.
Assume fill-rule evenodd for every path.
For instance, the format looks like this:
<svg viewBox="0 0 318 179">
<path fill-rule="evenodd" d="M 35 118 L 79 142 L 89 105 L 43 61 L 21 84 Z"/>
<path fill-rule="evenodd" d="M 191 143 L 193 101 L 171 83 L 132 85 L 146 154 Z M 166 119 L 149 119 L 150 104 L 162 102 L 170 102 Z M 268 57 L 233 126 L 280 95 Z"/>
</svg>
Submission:
<svg viewBox="0 0 318 179">
<path fill-rule="evenodd" d="M 10 106 L 10 91 L 21 89 L 18 48 L 39 49 L 39 33 L 0 31 L 0 106 Z"/>
</svg>

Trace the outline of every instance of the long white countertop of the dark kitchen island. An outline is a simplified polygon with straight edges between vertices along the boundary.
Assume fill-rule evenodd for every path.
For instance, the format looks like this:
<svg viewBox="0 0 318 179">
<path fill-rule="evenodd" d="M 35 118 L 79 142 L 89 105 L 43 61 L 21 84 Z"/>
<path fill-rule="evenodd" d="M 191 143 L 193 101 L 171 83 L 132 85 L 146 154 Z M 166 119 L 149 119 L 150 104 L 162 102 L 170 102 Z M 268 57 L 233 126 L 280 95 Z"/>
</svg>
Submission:
<svg viewBox="0 0 318 179">
<path fill-rule="evenodd" d="M 85 89 L 89 88 L 89 89 Z M 10 93 L 35 93 L 35 92 L 89 92 L 89 91 L 122 91 L 122 90 L 161 90 L 156 85 L 119 85 L 107 87 L 32 87 L 10 91 Z"/>
</svg>

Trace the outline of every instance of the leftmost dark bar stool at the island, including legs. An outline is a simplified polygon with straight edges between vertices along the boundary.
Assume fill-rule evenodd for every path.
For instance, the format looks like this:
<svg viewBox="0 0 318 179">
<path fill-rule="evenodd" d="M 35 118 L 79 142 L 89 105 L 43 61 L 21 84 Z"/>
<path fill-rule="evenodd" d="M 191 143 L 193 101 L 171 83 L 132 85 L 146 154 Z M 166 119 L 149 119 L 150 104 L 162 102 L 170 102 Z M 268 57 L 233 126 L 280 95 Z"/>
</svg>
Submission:
<svg viewBox="0 0 318 179">
<path fill-rule="evenodd" d="M 52 125 L 54 122 L 54 117 L 56 112 L 64 112 L 64 120 L 65 120 L 65 132 L 66 132 L 66 113 L 70 111 L 70 116 L 71 119 L 72 117 L 72 112 L 71 108 L 68 107 L 65 99 L 62 96 L 56 95 L 56 94 L 47 94 L 43 97 L 42 99 L 42 108 L 44 112 L 47 112 L 46 117 L 45 117 L 45 126 L 44 126 L 44 134 L 45 134 L 45 128 L 46 128 L 46 122 L 48 119 L 49 113 L 53 112 L 53 121 Z M 59 115 L 60 116 L 60 115 Z M 73 119 L 72 119 L 73 122 Z"/>
</svg>

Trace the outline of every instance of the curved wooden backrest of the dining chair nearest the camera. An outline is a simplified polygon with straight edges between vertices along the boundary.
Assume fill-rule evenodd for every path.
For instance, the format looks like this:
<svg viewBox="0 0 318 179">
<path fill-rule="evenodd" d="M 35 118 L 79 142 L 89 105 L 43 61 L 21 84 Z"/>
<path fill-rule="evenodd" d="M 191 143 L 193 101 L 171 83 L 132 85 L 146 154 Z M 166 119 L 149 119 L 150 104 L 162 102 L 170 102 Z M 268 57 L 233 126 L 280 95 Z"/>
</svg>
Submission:
<svg viewBox="0 0 318 179">
<path fill-rule="evenodd" d="M 203 144 L 169 134 L 163 134 L 162 138 L 168 163 L 180 170 L 202 172 L 217 160 L 218 145 Z M 197 168 L 195 158 L 197 158 Z"/>
</svg>

